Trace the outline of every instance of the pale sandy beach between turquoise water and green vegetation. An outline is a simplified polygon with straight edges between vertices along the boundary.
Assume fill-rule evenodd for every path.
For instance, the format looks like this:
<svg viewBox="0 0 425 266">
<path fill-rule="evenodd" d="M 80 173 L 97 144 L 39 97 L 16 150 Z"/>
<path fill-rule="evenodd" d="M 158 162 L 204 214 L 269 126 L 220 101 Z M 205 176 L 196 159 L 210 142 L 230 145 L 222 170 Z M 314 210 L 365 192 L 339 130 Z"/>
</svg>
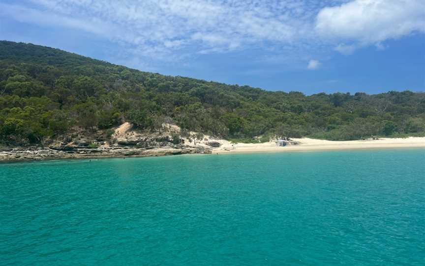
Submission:
<svg viewBox="0 0 425 266">
<path fill-rule="evenodd" d="M 381 149 L 381 148 L 425 148 L 425 137 L 380 138 L 377 140 L 330 141 L 311 138 L 294 138 L 299 145 L 276 146 L 274 141 L 266 143 L 232 144 L 220 140 L 221 146 L 212 153 L 261 153 L 261 152 L 290 152 L 314 150 L 349 150 L 349 149 Z"/>
</svg>

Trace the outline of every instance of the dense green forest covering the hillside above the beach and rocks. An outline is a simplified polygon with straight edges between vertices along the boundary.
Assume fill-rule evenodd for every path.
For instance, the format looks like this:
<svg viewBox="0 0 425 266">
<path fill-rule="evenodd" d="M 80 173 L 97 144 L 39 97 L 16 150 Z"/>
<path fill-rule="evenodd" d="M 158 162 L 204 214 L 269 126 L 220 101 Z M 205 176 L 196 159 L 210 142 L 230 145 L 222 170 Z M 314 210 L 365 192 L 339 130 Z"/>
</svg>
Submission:
<svg viewBox="0 0 425 266">
<path fill-rule="evenodd" d="M 282 88 L 286 89 L 286 88 Z M 425 93 L 271 92 L 170 77 L 32 44 L 0 42 L 0 142 L 37 144 L 76 127 L 174 123 L 227 139 L 425 135 Z"/>
</svg>

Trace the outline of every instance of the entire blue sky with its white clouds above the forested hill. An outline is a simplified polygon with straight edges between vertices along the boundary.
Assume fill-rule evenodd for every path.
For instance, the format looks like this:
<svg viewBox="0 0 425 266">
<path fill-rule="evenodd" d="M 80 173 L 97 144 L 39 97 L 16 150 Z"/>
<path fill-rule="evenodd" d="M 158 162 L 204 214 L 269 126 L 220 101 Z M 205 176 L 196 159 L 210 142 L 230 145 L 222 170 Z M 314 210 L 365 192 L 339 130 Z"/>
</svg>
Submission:
<svg viewBox="0 0 425 266">
<path fill-rule="evenodd" d="M 424 0 L 0 0 L 0 39 L 268 90 L 425 91 Z"/>
</svg>

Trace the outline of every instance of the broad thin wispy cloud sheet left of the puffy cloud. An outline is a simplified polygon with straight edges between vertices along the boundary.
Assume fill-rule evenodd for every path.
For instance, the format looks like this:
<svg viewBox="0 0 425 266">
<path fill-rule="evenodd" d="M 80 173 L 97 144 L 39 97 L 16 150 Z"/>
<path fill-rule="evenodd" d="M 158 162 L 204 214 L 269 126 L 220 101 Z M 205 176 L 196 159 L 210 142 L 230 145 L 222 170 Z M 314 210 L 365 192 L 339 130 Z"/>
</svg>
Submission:
<svg viewBox="0 0 425 266">
<path fill-rule="evenodd" d="M 341 1 L 23 0 L 0 9 L 19 21 L 85 30 L 157 57 L 307 45 L 318 10 Z"/>
</svg>

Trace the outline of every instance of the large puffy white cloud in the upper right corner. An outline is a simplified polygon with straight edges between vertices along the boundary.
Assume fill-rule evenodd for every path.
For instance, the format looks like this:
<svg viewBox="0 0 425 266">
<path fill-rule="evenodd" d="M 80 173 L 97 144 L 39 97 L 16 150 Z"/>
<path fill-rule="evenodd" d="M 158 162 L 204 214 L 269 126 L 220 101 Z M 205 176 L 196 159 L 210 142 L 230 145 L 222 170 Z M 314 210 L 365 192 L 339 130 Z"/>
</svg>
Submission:
<svg viewBox="0 0 425 266">
<path fill-rule="evenodd" d="M 424 0 L 354 0 L 325 7 L 317 15 L 316 32 L 338 43 L 341 53 L 377 45 L 412 32 L 425 32 Z M 346 44 L 349 43 L 349 44 Z"/>
</svg>

